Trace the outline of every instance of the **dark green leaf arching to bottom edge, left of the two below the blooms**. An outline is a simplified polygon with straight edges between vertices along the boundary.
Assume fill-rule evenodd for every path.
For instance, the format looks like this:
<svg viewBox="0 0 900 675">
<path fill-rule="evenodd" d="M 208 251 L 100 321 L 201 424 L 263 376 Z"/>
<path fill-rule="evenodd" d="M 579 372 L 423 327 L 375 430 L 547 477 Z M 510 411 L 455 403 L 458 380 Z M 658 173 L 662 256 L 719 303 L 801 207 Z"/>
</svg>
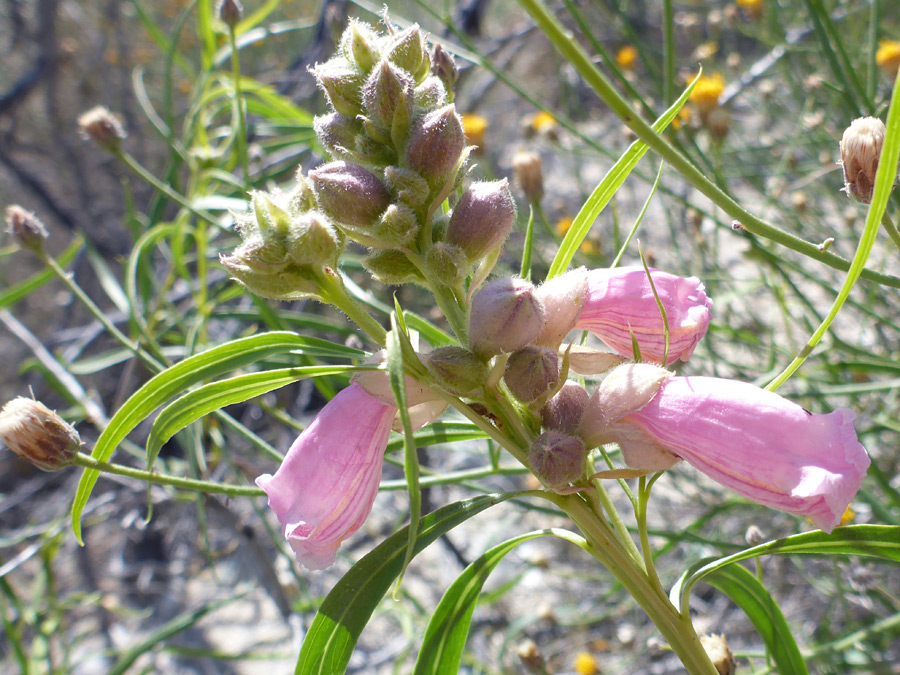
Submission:
<svg viewBox="0 0 900 675">
<path fill-rule="evenodd" d="M 414 553 L 486 508 L 521 494 L 479 495 L 432 511 L 419 523 Z M 403 528 L 376 546 L 331 590 L 300 648 L 295 675 L 333 675 L 347 669 L 363 628 L 403 567 L 408 532 Z"/>
</svg>

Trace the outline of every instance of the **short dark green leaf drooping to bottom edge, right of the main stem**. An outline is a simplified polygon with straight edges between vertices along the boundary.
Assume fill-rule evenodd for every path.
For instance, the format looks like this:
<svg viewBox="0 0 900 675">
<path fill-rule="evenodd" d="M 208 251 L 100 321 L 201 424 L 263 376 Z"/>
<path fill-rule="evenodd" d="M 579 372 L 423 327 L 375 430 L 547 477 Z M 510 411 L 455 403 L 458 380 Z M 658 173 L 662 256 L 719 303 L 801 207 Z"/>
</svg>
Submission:
<svg viewBox="0 0 900 675">
<path fill-rule="evenodd" d="M 749 570 L 730 565 L 712 572 L 704 581 L 722 591 L 744 611 L 766 643 L 766 650 L 779 673 L 806 675 L 809 672 L 781 608 Z"/>
</svg>

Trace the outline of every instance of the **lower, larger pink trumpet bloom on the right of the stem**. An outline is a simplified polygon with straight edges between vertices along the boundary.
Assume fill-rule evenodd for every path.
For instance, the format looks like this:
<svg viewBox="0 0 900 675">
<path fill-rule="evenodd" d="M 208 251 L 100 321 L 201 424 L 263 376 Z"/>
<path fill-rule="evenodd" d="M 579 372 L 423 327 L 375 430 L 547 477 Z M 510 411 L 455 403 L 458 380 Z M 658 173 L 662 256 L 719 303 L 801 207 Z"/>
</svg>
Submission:
<svg viewBox="0 0 900 675">
<path fill-rule="evenodd" d="M 626 437 L 629 427 L 638 432 L 632 443 L 652 440 L 735 492 L 806 516 L 825 532 L 841 522 L 870 463 L 852 411 L 814 415 L 752 384 L 714 377 L 666 380 L 614 425 Z"/>
</svg>

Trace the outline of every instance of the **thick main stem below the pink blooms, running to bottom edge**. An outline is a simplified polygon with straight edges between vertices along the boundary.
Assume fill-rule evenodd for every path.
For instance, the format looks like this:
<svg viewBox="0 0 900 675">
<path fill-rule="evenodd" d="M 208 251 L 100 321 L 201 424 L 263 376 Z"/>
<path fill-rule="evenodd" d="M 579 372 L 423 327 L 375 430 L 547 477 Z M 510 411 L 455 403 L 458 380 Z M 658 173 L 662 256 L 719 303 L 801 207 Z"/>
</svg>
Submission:
<svg viewBox="0 0 900 675">
<path fill-rule="evenodd" d="M 544 494 L 564 510 L 590 542 L 589 552 L 621 583 L 650 617 L 691 675 L 718 675 L 689 615 L 679 613 L 661 589 L 622 548 L 609 525 L 578 495 Z"/>
</svg>

